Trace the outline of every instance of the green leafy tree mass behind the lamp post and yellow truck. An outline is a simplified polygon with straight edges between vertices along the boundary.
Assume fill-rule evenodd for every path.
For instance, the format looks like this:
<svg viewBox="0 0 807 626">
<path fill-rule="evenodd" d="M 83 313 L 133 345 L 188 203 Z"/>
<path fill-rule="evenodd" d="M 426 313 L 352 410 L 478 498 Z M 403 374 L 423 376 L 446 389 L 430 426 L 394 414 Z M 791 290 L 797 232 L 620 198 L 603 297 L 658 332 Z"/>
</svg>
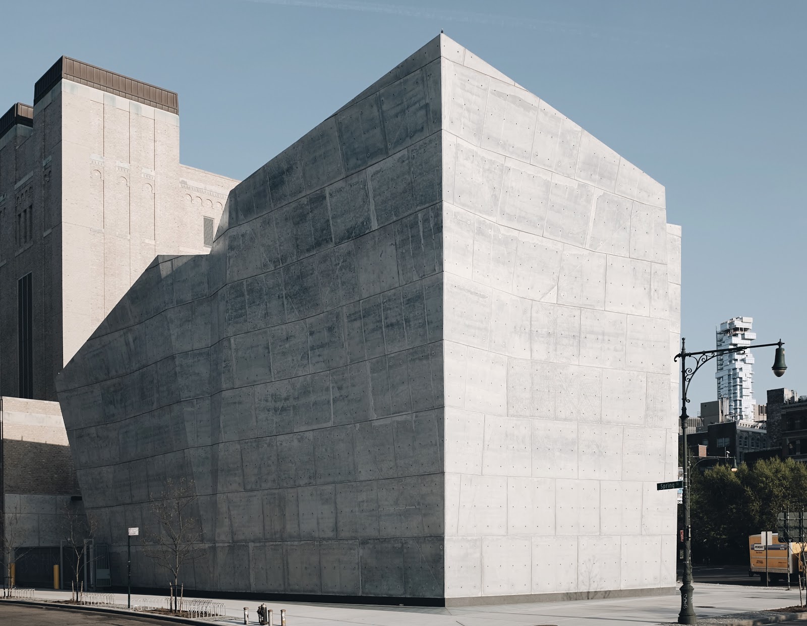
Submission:
<svg viewBox="0 0 807 626">
<path fill-rule="evenodd" d="M 690 476 L 695 561 L 746 563 L 749 535 L 776 531 L 781 511 L 807 507 L 807 465 L 792 459 L 743 463 L 736 472 L 718 464 Z"/>
</svg>

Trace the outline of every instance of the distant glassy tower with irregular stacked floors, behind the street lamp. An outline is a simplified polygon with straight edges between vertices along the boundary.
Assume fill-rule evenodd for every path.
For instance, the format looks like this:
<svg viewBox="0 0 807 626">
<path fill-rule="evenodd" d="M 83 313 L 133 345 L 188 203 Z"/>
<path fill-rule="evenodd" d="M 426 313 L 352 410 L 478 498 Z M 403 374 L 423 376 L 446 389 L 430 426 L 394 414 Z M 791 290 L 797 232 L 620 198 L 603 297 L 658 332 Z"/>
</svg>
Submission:
<svg viewBox="0 0 807 626">
<path fill-rule="evenodd" d="M 751 346 L 756 333 L 751 332 L 751 317 L 734 317 L 717 328 L 717 349 Z M 728 400 L 727 421 L 754 421 L 754 357 L 751 351 L 717 356 L 717 398 Z"/>
</svg>

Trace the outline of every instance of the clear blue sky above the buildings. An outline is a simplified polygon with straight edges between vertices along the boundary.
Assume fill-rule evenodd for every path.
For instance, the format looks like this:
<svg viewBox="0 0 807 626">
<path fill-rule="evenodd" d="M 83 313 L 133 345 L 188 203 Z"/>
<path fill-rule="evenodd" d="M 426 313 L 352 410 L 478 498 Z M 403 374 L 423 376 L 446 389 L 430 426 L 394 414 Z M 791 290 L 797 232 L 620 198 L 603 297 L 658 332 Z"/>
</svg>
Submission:
<svg viewBox="0 0 807 626">
<path fill-rule="evenodd" d="M 807 394 L 807 2 L 3 2 L 0 109 L 65 54 L 177 91 L 182 162 L 243 178 L 445 29 L 667 187 L 688 348 L 751 315 Z M 690 415 L 714 399 L 710 364 Z"/>
</svg>

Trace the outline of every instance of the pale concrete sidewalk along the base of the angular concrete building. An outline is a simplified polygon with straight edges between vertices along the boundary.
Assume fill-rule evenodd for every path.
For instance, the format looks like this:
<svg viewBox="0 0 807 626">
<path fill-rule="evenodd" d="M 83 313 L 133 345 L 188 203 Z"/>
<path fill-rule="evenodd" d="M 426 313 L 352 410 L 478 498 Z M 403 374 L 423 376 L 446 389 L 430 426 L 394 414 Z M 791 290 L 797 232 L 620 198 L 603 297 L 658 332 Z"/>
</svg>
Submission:
<svg viewBox="0 0 807 626">
<path fill-rule="evenodd" d="M 37 590 L 34 599 L 69 599 L 69 591 Z M 158 596 L 132 594 L 136 599 L 161 602 Z M 799 603 L 798 589 L 764 588 L 742 585 L 695 586 L 698 618 L 725 616 L 744 611 L 790 607 Z M 244 607 L 249 607 L 250 624 L 257 624 L 259 600 L 211 599 L 224 603 L 228 620 L 225 624 L 243 624 Z M 126 606 L 126 595 L 115 594 L 115 603 Z M 642 598 L 575 600 L 524 604 L 498 604 L 487 607 L 384 607 L 356 604 L 266 602 L 274 609 L 275 622 L 280 610 L 286 609 L 288 626 L 617 626 L 621 624 L 670 624 L 678 618 L 680 595 L 658 595 Z M 220 622 L 221 623 L 221 622 Z"/>
</svg>

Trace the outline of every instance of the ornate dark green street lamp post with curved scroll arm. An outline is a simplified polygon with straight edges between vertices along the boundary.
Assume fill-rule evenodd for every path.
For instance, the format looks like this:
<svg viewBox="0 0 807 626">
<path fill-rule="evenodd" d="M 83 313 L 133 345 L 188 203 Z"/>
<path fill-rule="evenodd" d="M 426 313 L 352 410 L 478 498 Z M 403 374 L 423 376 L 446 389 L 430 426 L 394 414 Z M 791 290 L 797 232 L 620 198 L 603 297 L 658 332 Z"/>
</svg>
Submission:
<svg viewBox="0 0 807 626">
<path fill-rule="evenodd" d="M 775 345 L 776 357 L 773 361 L 773 373 L 776 376 L 784 374 L 784 370 L 788 369 L 784 365 L 784 348 L 782 348 L 782 340 L 776 344 L 759 344 L 753 346 L 738 346 L 735 348 L 721 348 L 718 350 L 703 350 L 701 352 L 688 353 L 685 349 L 686 340 L 681 337 L 681 352 L 675 355 L 674 361 L 681 360 L 681 433 L 684 439 L 684 458 L 681 465 L 684 466 L 684 578 L 681 581 L 681 611 L 678 614 L 679 624 L 697 624 L 697 617 L 695 610 L 692 606 L 692 524 L 689 519 L 689 446 L 687 445 L 687 391 L 689 383 L 692 382 L 692 377 L 700 369 L 706 361 L 711 361 L 714 357 L 720 354 L 729 353 L 742 353 L 751 348 L 767 348 L 768 346 Z M 687 366 L 687 359 L 692 358 L 695 363 Z"/>
</svg>

